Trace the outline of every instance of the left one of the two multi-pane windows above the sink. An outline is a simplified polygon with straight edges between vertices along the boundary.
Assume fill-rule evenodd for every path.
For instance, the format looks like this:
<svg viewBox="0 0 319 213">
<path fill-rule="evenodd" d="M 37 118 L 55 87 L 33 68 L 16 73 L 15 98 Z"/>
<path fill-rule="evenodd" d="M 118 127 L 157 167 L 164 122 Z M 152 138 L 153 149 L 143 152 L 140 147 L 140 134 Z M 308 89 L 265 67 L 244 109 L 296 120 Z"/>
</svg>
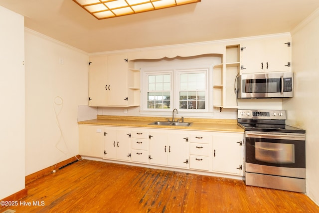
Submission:
<svg viewBox="0 0 319 213">
<path fill-rule="evenodd" d="M 148 75 L 148 109 L 170 108 L 170 74 Z"/>
</svg>

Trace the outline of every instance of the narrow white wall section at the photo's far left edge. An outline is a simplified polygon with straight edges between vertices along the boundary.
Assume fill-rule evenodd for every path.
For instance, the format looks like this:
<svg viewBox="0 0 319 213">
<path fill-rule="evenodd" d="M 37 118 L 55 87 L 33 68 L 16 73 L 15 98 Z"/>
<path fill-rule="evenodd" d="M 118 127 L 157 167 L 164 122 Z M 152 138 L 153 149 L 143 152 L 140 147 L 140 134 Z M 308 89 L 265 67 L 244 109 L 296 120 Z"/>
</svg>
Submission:
<svg viewBox="0 0 319 213">
<path fill-rule="evenodd" d="M 0 6 L 0 200 L 24 189 L 23 16 Z"/>
</svg>

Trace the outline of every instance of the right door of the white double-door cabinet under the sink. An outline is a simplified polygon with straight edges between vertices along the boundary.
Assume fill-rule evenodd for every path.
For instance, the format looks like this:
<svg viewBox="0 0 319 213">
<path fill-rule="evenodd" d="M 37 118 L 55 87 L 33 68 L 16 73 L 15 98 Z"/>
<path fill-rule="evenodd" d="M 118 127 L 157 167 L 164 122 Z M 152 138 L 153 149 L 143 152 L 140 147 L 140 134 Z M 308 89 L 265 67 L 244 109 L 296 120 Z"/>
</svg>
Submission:
<svg viewBox="0 0 319 213">
<path fill-rule="evenodd" d="M 168 166 L 188 167 L 189 135 L 184 133 L 170 133 L 168 142 Z"/>
</svg>

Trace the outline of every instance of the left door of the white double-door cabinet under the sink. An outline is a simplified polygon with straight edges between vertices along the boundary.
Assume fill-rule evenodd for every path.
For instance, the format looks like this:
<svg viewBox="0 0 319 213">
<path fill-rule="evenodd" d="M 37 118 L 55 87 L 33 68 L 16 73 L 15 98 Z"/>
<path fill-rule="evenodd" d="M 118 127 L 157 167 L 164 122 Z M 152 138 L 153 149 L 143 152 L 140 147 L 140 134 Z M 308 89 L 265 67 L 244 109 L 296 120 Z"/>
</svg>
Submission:
<svg viewBox="0 0 319 213">
<path fill-rule="evenodd" d="M 164 132 L 150 132 L 150 163 L 167 165 L 168 134 Z"/>
</svg>

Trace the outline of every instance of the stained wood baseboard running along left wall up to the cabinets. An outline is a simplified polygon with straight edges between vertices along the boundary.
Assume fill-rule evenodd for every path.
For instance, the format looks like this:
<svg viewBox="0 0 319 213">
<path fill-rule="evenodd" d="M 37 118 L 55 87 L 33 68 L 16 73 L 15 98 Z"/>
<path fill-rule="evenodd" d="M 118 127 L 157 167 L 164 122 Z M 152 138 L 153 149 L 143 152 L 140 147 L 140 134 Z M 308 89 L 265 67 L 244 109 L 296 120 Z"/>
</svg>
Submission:
<svg viewBox="0 0 319 213">
<path fill-rule="evenodd" d="M 52 165 L 52 166 L 47 167 L 47 168 L 45 168 L 43 170 L 40 170 L 38 172 L 32 173 L 32 174 L 30 174 L 28 176 L 25 176 L 25 184 L 28 184 L 28 183 L 30 183 L 32 181 L 35 181 L 36 179 L 41 178 L 43 176 L 49 175 L 49 174 L 52 173 L 53 170 L 58 172 L 58 169 L 60 167 L 63 167 L 65 165 L 67 165 L 67 164 L 70 164 L 70 163 L 72 163 L 72 162 L 74 162 L 74 161 L 76 161 L 78 159 L 81 159 L 80 155 L 77 155 L 75 157 L 72 157 L 72 158 L 69 158 L 67 160 L 61 161 L 60 163 L 57 163 L 56 165 Z"/>
</svg>

